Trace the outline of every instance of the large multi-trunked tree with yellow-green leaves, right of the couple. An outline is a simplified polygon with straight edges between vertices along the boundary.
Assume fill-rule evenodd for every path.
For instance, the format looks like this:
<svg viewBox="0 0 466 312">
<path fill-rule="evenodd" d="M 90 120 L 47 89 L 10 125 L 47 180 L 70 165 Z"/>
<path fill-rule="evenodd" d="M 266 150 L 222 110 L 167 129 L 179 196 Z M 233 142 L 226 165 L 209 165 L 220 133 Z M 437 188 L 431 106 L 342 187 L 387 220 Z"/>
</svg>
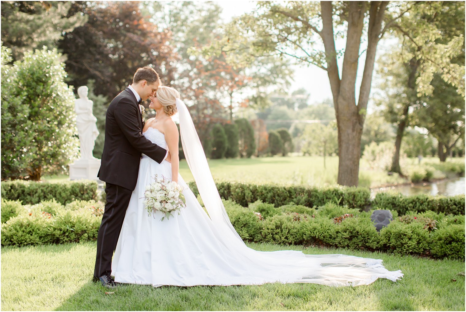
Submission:
<svg viewBox="0 0 466 312">
<path fill-rule="evenodd" d="M 389 5 L 389 1 L 257 3 L 258 8 L 254 12 L 233 20 L 226 27 L 225 39 L 217 42 L 215 47 L 229 51 L 231 58 L 240 64 L 263 55 L 288 56 L 290 60 L 312 64 L 327 71 L 335 104 L 338 147 L 342 156 L 339 157 L 337 182 L 357 185 L 361 135 L 377 44 L 388 29 L 420 4 L 394 2 Z M 404 29 L 404 26 L 398 26 Z M 428 27 L 417 28 L 430 36 L 434 36 L 437 31 Z M 336 37 L 346 39 L 344 53 L 336 49 Z M 318 49 L 316 42 L 322 43 L 324 49 Z M 365 48 L 365 53 L 361 52 L 361 48 Z M 343 66 L 340 71 L 338 59 L 342 56 Z M 356 97 L 358 63 L 362 60 L 362 80 Z"/>
</svg>

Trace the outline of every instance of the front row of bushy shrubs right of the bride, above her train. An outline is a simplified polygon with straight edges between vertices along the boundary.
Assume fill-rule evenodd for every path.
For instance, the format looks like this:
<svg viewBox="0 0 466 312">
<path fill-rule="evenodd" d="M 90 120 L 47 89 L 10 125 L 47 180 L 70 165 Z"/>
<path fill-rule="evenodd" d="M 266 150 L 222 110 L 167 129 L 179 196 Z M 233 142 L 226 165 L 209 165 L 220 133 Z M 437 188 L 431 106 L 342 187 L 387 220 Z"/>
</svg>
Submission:
<svg viewBox="0 0 466 312">
<path fill-rule="evenodd" d="M 328 203 L 324 206 L 255 202 L 249 207 L 226 201 L 233 227 L 246 241 L 379 250 L 435 258 L 465 257 L 465 216 L 432 211 L 398 217 L 377 233 L 370 212 Z"/>
</svg>

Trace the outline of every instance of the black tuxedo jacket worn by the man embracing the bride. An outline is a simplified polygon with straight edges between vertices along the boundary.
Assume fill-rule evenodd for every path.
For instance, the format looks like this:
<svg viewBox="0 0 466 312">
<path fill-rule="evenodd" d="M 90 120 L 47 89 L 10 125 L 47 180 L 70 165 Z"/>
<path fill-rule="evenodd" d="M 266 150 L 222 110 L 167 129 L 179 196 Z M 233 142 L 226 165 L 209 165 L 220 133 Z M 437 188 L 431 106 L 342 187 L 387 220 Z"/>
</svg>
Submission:
<svg viewBox="0 0 466 312">
<path fill-rule="evenodd" d="M 97 177 L 134 190 L 141 153 L 161 163 L 167 150 L 142 135 L 143 122 L 136 96 L 129 88 L 110 103 L 105 116 L 105 142 Z"/>
</svg>

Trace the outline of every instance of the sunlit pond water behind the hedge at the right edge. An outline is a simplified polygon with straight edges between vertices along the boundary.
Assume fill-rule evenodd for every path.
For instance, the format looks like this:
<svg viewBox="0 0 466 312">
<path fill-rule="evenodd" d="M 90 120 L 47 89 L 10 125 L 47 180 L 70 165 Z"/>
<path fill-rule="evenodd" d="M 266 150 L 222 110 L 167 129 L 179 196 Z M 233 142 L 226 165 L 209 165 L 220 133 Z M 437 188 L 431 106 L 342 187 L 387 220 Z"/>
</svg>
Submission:
<svg viewBox="0 0 466 312">
<path fill-rule="evenodd" d="M 432 183 L 406 184 L 398 186 L 384 187 L 381 189 L 371 189 L 371 197 L 375 197 L 378 192 L 396 191 L 403 195 L 444 195 L 453 196 L 465 193 L 465 177 L 440 180 Z"/>
</svg>

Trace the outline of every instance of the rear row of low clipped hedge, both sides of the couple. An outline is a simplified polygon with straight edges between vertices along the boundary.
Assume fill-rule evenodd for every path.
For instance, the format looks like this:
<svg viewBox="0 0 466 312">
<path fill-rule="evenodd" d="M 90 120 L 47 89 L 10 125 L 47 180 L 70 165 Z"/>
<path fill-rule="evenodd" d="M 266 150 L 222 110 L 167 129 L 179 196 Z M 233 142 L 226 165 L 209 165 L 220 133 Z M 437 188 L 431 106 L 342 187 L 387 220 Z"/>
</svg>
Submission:
<svg viewBox="0 0 466 312">
<path fill-rule="evenodd" d="M 195 182 L 189 183 L 198 195 Z M 330 187 L 316 188 L 304 186 L 255 185 L 237 182 L 216 183 L 220 197 L 233 200 L 241 206 L 261 200 L 265 203 L 283 206 L 296 204 L 307 207 L 323 206 L 333 202 L 336 205 L 356 208 L 360 211 L 369 208 L 389 209 L 404 214 L 409 211 L 435 211 L 445 214 L 465 214 L 465 195 L 452 197 L 414 195 L 403 196 L 396 193 L 378 193 L 370 199 L 367 188 Z M 104 193 L 103 193 L 104 194 Z M 37 204 L 55 199 L 66 205 L 74 200 L 97 200 L 96 181 L 42 183 L 32 181 L 12 181 L 1 183 L 1 197 L 20 200 L 22 204 Z"/>
</svg>

